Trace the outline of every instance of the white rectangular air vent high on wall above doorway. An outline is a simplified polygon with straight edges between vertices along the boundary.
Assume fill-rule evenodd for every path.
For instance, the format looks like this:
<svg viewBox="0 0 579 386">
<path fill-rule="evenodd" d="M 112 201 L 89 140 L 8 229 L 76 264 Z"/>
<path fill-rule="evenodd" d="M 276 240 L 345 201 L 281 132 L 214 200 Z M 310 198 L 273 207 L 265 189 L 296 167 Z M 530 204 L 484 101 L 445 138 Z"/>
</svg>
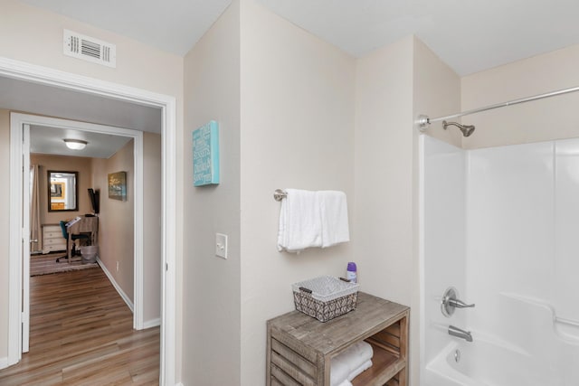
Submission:
<svg viewBox="0 0 579 386">
<path fill-rule="evenodd" d="M 91 61 L 112 68 L 117 67 L 117 46 L 109 42 L 64 30 L 62 49 L 65 55 L 83 61 Z"/>
</svg>

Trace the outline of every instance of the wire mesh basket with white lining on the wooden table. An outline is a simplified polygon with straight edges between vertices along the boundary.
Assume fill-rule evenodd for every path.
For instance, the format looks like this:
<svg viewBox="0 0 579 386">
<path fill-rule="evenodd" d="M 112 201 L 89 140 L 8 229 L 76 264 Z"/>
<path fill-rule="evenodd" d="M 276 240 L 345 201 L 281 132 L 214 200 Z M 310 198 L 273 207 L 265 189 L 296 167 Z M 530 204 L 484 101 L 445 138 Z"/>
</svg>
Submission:
<svg viewBox="0 0 579 386">
<path fill-rule="evenodd" d="M 344 279 L 322 276 L 292 285 L 296 309 L 327 322 L 356 309 L 358 288 Z"/>
</svg>

